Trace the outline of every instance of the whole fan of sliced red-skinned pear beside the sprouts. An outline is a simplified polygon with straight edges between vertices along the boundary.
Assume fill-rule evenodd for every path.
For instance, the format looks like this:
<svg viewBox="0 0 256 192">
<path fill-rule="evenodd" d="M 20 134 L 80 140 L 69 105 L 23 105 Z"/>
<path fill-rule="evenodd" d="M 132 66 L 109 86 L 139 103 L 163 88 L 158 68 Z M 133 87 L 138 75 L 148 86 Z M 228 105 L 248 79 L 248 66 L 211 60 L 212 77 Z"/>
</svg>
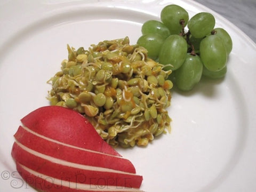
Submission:
<svg viewBox="0 0 256 192">
<path fill-rule="evenodd" d="M 133 164 L 76 111 L 46 106 L 32 111 L 21 122 L 23 126 L 14 134 L 11 155 L 21 177 L 35 189 L 142 192 L 139 188 L 143 178 L 136 174 Z M 38 180 L 42 182 L 35 182 Z M 59 183 L 50 182 L 54 180 Z M 73 187 L 62 182 L 70 182 Z"/>
</svg>

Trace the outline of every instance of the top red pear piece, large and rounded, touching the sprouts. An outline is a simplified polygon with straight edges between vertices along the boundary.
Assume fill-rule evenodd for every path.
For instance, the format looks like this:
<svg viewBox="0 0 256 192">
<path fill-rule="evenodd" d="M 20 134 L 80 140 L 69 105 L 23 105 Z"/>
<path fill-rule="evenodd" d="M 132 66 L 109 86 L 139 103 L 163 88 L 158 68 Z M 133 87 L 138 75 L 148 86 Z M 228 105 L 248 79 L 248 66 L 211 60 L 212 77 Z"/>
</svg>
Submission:
<svg viewBox="0 0 256 192">
<path fill-rule="evenodd" d="M 47 138 L 69 145 L 121 156 L 99 137 L 92 124 L 81 114 L 60 106 L 38 108 L 21 119 L 23 125 Z"/>
</svg>

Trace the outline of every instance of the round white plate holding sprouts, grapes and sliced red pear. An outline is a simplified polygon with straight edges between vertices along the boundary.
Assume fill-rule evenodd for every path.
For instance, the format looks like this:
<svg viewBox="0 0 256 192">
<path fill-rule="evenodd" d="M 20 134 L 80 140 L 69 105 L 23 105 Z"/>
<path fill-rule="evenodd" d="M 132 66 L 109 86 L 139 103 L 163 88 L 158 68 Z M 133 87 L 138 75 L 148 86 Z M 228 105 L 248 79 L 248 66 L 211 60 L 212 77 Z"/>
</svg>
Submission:
<svg viewBox="0 0 256 192">
<path fill-rule="evenodd" d="M 1 1 L 0 191 L 34 191 L 22 182 L 10 155 L 19 119 L 49 105 L 46 81 L 60 70 L 66 44 L 88 47 L 129 36 L 159 19 L 175 3 L 190 17 L 211 12 L 233 39 L 225 79 L 204 79 L 191 92 L 173 92 L 171 134 L 146 148 L 118 149 L 143 175 L 141 189 L 155 191 L 256 190 L 256 46 L 219 14 L 192 1 Z"/>
</svg>

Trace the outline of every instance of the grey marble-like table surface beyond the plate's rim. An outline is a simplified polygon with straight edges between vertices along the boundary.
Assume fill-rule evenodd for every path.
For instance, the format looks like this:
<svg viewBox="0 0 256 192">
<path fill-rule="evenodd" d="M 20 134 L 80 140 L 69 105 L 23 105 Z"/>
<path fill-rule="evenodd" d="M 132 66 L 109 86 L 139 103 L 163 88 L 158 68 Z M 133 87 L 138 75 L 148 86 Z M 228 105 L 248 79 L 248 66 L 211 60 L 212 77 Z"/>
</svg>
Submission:
<svg viewBox="0 0 256 192">
<path fill-rule="evenodd" d="M 219 13 L 256 43 L 256 0 L 194 0 Z"/>
</svg>

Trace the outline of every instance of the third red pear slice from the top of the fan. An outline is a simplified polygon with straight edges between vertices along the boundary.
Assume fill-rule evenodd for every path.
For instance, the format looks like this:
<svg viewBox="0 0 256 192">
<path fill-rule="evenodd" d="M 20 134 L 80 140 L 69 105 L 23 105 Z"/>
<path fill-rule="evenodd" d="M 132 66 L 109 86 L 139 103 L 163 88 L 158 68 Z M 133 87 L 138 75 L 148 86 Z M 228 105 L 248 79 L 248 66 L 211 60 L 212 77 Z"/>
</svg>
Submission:
<svg viewBox="0 0 256 192">
<path fill-rule="evenodd" d="M 100 186 L 120 186 L 127 188 L 139 188 L 142 177 L 136 174 L 129 174 L 121 171 L 102 169 L 101 167 L 74 165 L 69 162 L 61 162 L 58 159 L 39 157 L 33 151 L 27 151 L 20 144 L 14 143 L 12 149 L 13 158 L 38 173 L 48 175 L 51 178 L 66 180 L 70 182 L 84 183 Z M 33 161 L 31 161 L 33 159 Z M 54 162 L 56 160 L 57 162 Z M 40 165 L 40 166 L 38 166 Z"/>
</svg>

